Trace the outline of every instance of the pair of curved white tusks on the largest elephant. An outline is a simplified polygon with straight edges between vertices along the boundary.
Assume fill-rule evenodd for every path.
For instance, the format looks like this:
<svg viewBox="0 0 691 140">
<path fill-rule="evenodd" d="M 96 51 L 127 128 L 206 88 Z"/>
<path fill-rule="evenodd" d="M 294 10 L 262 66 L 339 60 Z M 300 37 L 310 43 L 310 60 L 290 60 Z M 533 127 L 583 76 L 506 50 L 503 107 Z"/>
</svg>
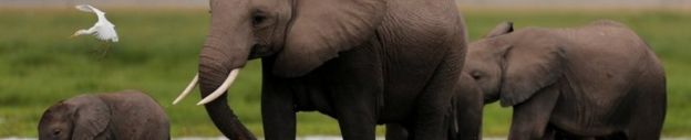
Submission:
<svg viewBox="0 0 691 140">
<path fill-rule="evenodd" d="M 237 78 L 238 73 L 240 73 L 240 68 L 235 68 L 235 69 L 230 71 L 230 73 L 226 77 L 226 80 L 224 80 L 224 83 L 220 84 L 220 86 L 218 88 L 216 88 L 216 90 L 214 90 L 214 93 L 209 94 L 204 99 L 202 99 L 199 103 L 197 103 L 197 105 L 205 105 L 205 104 L 214 101 L 216 98 L 220 97 L 220 95 L 226 93 L 228 87 L 230 87 L 230 85 L 233 85 L 233 82 L 235 82 L 235 78 Z M 195 77 L 192 79 L 192 82 L 189 82 L 189 85 L 187 85 L 185 90 L 183 90 L 183 93 L 179 96 L 177 96 L 177 98 L 175 98 L 175 100 L 173 101 L 173 105 L 176 105 L 177 103 L 183 100 L 189 93 L 192 93 L 192 89 L 194 89 L 198 84 L 199 84 L 199 74 L 197 73 L 195 75 Z"/>
</svg>

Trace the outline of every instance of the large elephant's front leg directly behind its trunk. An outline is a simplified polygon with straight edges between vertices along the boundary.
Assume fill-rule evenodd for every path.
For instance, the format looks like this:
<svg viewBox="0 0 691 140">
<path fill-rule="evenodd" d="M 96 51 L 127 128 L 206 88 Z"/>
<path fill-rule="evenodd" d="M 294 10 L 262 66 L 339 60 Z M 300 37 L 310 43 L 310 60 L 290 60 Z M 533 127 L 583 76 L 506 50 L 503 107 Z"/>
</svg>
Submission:
<svg viewBox="0 0 691 140">
<path fill-rule="evenodd" d="M 288 82 L 267 75 L 270 72 L 264 73 L 261 88 L 264 137 L 267 140 L 295 140 L 296 110 Z"/>
</svg>

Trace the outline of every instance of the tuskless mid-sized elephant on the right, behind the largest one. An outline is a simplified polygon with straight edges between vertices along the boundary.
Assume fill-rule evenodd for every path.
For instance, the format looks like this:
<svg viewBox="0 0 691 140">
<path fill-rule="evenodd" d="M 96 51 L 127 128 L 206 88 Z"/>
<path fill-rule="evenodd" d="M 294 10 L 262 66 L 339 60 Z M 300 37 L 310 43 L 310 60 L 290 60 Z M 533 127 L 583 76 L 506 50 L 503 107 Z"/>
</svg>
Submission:
<svg viewBox="0 0 691 140">
<path fill-rule="evenodd" d="M 485 101 L 513 106 L 512 140 L 660 139 L 664 72 L 620 23 L 515 32 L 503 23 L 470 45 L 464 73 L 478 83 Z"/>
</svg>

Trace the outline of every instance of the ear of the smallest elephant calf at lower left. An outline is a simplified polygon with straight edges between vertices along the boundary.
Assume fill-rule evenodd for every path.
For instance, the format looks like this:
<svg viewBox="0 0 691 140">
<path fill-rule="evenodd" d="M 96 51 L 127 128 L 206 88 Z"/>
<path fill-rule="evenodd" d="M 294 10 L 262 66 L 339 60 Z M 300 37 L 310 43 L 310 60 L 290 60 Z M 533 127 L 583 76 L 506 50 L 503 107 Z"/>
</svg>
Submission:
<svg viewBox="0 0 691 140">
<path fill-rule="evenodd" d="M 70 100 L 78 109 L 74 112 L 73 140 L 92 140 L 107 127 L 111 109 L 101 98 L 84 95 Z"/>
</svg>

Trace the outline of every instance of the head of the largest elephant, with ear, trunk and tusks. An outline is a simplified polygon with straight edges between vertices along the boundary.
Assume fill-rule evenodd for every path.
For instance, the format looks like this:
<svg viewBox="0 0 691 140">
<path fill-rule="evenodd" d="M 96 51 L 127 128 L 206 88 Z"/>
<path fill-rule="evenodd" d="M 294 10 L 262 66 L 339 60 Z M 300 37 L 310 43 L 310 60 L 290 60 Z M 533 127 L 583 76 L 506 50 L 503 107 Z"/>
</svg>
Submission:
<svg viewBox="0 0 691 140">
<path fill-rule="evenodd" d="M 264 68 L 275 76 L 302 76 L 337 57 L 339 52 L 368 41 L 385 14 L 383 0 L 210 0 L 209 3 L 212 25 L 199 54 L 197 76 L 205 99 L 199 104 L 210 103 L 206 105 L 209 116 L 229 138 L 250 134 L 235 119 L 224 94 L 248 60 L 270 60 L 272 63 Z M 195 84 L 193 80 L 188 87 Z M 215 100 L 218 97 L 221 98 Z"/>
</svg>

